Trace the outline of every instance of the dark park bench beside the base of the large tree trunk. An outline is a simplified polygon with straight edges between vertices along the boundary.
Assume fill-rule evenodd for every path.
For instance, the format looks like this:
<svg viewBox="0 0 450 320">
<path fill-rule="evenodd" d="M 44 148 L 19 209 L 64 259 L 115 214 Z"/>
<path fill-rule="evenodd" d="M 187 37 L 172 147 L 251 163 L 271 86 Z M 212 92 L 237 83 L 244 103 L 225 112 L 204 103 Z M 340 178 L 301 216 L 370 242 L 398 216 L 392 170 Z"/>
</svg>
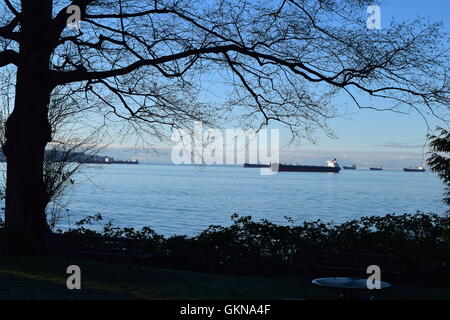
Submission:
<svg viewBox="0 0 450 320">
<path fill-rule="evenodd" d="M 135 239 L 51 234 L 48 237 L 47 248 L 51 254 L 66 256 L 69 264 L 74 256 L 125 260 L 128 268 L 132 263 L 137 263 L 140 273 L 142 263 L 152 256 L 144 252 L 143 244 L 143 241 Z"/>
</svg>

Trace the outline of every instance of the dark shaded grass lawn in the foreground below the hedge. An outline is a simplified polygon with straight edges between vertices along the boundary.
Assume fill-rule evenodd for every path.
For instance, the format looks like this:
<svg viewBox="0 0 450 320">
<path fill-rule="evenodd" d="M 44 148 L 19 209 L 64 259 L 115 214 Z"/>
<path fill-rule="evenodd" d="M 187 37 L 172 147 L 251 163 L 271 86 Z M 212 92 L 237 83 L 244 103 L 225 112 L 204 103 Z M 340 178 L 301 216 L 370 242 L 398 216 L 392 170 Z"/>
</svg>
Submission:
<svg viewBox="0 0 450 320">
<path fill-rule="evenodd" d="M 82 289 L 66 287 L 65 259 L 0 257 L 0 299 L 336 299 L 301 277 L 249 277 L 73 260 Z M 396 286 L 377 299 L 450 299 L 450 289 Z"/>
</svg>

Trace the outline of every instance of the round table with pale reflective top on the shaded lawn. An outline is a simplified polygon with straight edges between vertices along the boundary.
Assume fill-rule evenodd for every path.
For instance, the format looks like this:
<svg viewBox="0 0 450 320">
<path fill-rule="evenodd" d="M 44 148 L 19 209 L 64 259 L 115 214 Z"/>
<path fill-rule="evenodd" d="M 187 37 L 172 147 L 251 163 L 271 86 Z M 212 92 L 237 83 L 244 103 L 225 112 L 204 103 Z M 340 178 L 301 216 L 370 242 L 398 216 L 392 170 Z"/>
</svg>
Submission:
<svg viewBox="0 0 450 320">
<path fill-rule="evenodd" d="M 361 291 L 373 291 L 367 287 L 367 279 L 347 278 L 347 277 L 333 277 L 333 278 L 319 278 L 312 281 L 313 284 L 342 289 L 342 298 L 344 300 L 360 299 Z M 390 288 L 391 284 L 385 281 L 380 281 L 380 289 Z"/>
</svg>

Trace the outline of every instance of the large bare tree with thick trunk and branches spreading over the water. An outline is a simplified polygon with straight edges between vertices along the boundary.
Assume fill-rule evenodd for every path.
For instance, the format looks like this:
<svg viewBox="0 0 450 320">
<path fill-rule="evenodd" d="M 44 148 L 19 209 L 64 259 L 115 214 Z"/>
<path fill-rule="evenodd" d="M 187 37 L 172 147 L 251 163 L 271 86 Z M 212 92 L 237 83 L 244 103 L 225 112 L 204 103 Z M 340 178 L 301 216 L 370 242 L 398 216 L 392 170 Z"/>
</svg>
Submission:
<svg viewBox="0 0 450 320">
<path fill-rule="evenodd" d="M 3 144 L 6 229 L 35 238 L 48 231 L 43 155 L 56 88 L 161 138 L 234 108 L 246 123 L 283 123 L 294 138 L 314 138 L 315 128 L 332 134 L 332 98 L 343 94 L 360 108 L 442 117 L 449 83 L 439 25 L 368 30 L 371 2 L 3 0 L 0 67 L 16 69 Z M 67 28 L 73 8 L 79 30 Z M 215 93 L 229 99 L 214 101 L 208 81 L 223 81 Z"/>
</svg>

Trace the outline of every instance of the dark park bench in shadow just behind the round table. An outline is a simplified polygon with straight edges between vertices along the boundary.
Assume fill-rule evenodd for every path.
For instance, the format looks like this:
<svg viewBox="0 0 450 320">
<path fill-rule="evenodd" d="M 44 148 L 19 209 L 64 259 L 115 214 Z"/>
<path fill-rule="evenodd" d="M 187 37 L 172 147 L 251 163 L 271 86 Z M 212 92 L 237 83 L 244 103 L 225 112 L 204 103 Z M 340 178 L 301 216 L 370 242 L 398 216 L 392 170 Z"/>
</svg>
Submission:
<svg viewBox="0 0 450 320">
<path fill-rule="evenodd" d="M 383 277 L 398 279 L 402 274 L 398 256 L 356 252 L 297 249 L 296 265 L 309 274 L 367 277 L 367 267 L 377 265 Z"/>
</svg>

